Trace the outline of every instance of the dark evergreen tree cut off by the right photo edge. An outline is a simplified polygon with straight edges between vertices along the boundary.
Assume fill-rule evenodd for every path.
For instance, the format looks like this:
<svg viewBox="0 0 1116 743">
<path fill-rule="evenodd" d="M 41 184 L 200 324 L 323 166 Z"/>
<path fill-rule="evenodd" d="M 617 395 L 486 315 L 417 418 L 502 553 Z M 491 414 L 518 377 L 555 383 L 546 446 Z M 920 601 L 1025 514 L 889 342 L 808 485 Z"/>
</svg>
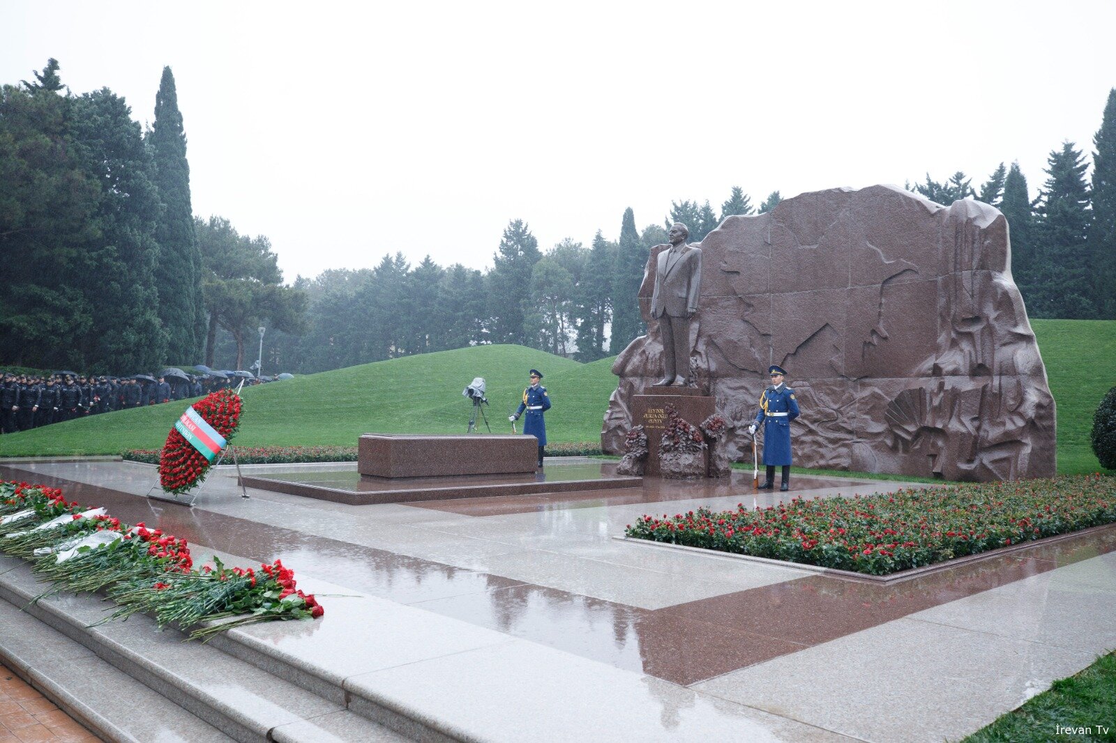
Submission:
<svg viewBox="0 0 1116 743">
<path fill-rule="evenodd" d="M 1108 93 L 1100 128 L 1093 137 L 1093 224 L 1089 259 L 1097 317 L 1116 320 L 1116 88 Z"/>
</svg>

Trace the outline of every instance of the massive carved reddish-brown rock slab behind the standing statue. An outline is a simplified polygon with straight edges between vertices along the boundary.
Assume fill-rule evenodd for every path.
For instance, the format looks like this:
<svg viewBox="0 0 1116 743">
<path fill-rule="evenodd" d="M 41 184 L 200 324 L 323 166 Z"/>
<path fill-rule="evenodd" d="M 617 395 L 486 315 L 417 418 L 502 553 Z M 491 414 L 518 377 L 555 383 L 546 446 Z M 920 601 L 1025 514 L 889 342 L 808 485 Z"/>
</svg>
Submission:
<svg viewBox="0 0 1116 743">
<path fill-rule="evenodd" d="M 660 373 L 647 306 L 666 248 L 652 250 L 639 290 L 648 335 L 613 365 L 609 453 Z M 693 367 L 730 422 L 730 459 L 750 448 L 747 424 L 778 364 L 802 411 L 796 464 L 949 480 L 1055 474 L 1054 398 L 998 210 L 894 186 L 835 189 L 730 216 L 701 249 Z"/>
</svg>

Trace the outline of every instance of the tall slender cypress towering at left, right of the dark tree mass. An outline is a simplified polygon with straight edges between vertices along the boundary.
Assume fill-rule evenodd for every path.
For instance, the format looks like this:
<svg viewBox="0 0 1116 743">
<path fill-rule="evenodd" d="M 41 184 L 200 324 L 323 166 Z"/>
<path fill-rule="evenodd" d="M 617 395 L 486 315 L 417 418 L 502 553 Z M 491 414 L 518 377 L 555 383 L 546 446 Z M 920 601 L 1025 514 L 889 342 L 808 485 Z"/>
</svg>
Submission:
<svg viewBox="0 0 1116 743">
<path fill-rule="evenodd" d="M 163 68 L 158 84 L 150 141 L 155 155 L 155 184 L 166 205 L 155 234 L 160 244 L 155 264 L 158 313 L 167 334 L 167 353 L 172 359 L 185 363 L 200 355 L 205 309 L 202 258 L 190 203 L 186 134 L 170 67 Z"/>
</svg>

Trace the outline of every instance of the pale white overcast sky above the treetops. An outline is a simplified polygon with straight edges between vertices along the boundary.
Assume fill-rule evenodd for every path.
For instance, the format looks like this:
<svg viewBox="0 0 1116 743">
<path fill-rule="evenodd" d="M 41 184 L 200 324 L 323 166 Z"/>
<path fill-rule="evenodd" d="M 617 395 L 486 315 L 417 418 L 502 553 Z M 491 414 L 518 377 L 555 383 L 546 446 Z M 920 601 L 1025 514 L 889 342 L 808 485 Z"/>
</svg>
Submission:
<svg viewBox="0 0 1116 743">
<path fill-rule="evenodd" d="M 1116 86 L 1116 2 L 0 0 L 0 81 L 48 57 L 150 123 L 177 83 L 194 212 L 270 238 L 287 280 L 492 263 L 642 230 L 733 185 L 759 204 L 1087 155 Z"/>
</svg>

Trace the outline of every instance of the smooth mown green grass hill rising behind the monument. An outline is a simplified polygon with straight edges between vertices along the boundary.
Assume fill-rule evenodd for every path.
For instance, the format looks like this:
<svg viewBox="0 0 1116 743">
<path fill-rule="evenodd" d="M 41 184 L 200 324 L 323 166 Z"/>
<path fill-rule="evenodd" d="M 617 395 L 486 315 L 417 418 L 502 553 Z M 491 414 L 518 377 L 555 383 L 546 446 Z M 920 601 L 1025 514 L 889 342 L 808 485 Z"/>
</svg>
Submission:
<svg viewBox="0 0 1116 743">
<path fill-rule="evenodd" d="M 1089 446 L 1093 412 L 1116 385 L 1116 321 L 1032 320 L 1058 405 L 1058 470 L 1099 469 Z M 550 441 L 595 442 L 616 389 L 613 358 L 579 364 L 522 346 L 478 346 L 353 366 L 246 388 L 244 446 L 345 445 L 365 432 L 464 433 L 471 413 L 461 390 L 484 377 L 494 433 L 510 433 L 527 373 L 551 390 Z M 157 448 L 184 402 L 108 413 L 0 436 L 0 456 L 115 454 Z M 481 431 L 484 431 L 483 424 Z"/>
</svg>

